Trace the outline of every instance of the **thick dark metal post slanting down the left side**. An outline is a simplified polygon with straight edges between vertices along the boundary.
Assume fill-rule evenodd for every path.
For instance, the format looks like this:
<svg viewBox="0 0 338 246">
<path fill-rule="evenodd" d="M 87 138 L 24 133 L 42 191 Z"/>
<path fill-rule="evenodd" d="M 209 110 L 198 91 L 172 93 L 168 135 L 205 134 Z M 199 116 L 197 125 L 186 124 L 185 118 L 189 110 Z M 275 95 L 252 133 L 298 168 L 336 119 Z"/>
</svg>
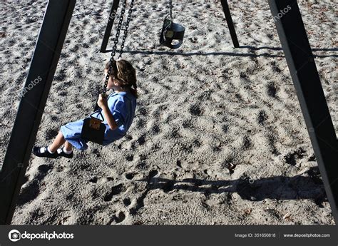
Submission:
<svg viewBox="0 0 338 246">
<path fill-rule="evenodd" d="M 76 0 L 49 0 L 0 173 L 0 224 L 10 224 Z"/>
</svg>

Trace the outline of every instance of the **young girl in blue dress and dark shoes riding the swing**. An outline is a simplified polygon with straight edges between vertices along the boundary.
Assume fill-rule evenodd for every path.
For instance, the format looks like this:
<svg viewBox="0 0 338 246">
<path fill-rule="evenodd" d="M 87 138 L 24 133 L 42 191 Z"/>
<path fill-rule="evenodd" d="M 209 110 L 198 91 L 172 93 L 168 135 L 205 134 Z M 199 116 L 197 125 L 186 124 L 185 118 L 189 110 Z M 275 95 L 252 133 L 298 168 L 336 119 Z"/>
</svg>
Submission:
<svg viewBox="0 0 338 246">
<path fill-rule="evenodd" d="M 110 63 L 106 63 L 105 77 L 108 73 Z M 136 72 L 133 66 L 125 60 L 113 61 L 113 69 L 108 80 L 107 89 L 114 89 L 108 98 L 102 94 L 98 97 L 98 106 L 102 109 L 106 131 L 103 138 L 103 145 L 113 143 L 113 141 L 126 135 L 135 115 L 137 86 Z M 98 113 L 93 117 L 99 118 Z M 62 125 L 58 135 L 48 147 L 34 146 L 33 153 L 39 157 L 65 158 L 73 157 L 73 147 L 79 150 L 88 148 L 87 141 L 81 139 L 83 120 L 75 121 Z M 61 146 L 64 144 L 64 147 Z"/>
</svg>

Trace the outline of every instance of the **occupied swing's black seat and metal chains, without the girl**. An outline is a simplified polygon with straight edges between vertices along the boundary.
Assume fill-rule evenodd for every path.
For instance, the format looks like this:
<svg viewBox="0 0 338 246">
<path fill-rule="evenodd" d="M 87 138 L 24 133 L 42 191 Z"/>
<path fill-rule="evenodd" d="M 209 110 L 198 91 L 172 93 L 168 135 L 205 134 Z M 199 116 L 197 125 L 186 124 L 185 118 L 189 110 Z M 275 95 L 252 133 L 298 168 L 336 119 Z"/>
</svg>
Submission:
<svg viewBox="0 0 338 246">
<path fill-rule="evenodd" d="M 130 19 L 131 19 L 131 13 L 133 11 L 133 4 L 134 4 L 134 0 L 131 0 L 130 8 L 129 8 L 129 11 L 128 11 L 128 17 L 127 17 L 127 21 L 126 21 L 126 29 L 124 30 L 124 33 L 123 33 L 121 49 L 120 49 L 118 58 L 121 58 L 122 53 L 123 53 L 124 43 L 126 41 L 127 34 L 128 34 L 128 27 L 129 27 L 129 22 L 130 22 Z M 109 77 L 111 76 L 111 72 L 113 70 L 114 56 L 116 54 L 116 47 L 117 47 L 117 44 L 118 44 L 118 38 L 120 36 L 120 31 L 121 31 L 121 28 L 122 28 L 123 16 L 124 16 L 124 13 L 126 11 L 126 6 L 127 6 L 127 0 L 123 0 L 121 15 L 120 15 L 119 20 L 118 20 L 118 28 L 116 30 L 116 36 L 115 36 L 115 39 L 114 39 L 114 46 L 113 46 L 113 49 L 112 49 L 112 52 L 111 52 L 111 58 L 110 58 L 110 61 L 109 61 L 109 68 L 108 68 L 106 80 L 105 80 L 103 90 L 102 90 L 102 93 L 105 96 L 106 96 L 106 92 L 107 92 Z M 94 117 L 93 116 L 94 113 L 92 113 L 89 118 L 86 118 L 83 121 L 83 126 L 82 126 L 82 130 L 81 130 L 81 138 L 83 138 L 84 140 L 88 140 L 90 142 L 98 143 L 98 144 L 102 145 L 104 134 L 105 134 L 105 131 L 106 131 L 106 125 L 104 125 L 102 123 L 104 121 L 103 115 L 101 113 L 102 109 L 100 107 L 98 107 L 97 103 L 96 103 L 96 106 L 94 108 L 94 111 L 95 111 L 94 113 L 98 112 L 98 115 L 101 118 Z"/>
</svg>

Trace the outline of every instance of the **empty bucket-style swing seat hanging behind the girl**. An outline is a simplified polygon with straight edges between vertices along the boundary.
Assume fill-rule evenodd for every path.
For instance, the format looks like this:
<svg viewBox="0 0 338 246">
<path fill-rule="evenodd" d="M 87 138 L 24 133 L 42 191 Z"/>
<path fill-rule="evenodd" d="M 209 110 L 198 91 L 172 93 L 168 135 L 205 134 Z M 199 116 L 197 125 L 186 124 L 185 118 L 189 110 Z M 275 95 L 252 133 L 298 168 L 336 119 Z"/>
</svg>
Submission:
<svg viewBox="0 0 338 246">
<path fill-rule="evenodd" d="M 171 19 L 164 19 L 160 34 L 160 44 L 169 48 L 179 48 L 183 43 L 185 28 Z"/>
</svg>

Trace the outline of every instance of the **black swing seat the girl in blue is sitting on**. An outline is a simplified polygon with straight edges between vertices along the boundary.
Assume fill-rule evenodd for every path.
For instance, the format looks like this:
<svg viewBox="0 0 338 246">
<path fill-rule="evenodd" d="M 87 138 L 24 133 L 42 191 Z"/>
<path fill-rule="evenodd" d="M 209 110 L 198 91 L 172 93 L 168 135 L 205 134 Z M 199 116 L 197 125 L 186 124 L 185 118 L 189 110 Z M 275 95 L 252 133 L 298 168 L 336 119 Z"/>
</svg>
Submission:
<svg viewBox="0 0 338 246">
<path fill-rule="evenodd" d="M 102 123 L 102 120 L 95 118 L 92 115 L 93 114 L 91 114 L 91 118 L 86 118 L 83 121 L 81 138 L 102 145 L 106 125 Z M 103 118 L 101 112 L 100 115 Z"/>
</svg>

